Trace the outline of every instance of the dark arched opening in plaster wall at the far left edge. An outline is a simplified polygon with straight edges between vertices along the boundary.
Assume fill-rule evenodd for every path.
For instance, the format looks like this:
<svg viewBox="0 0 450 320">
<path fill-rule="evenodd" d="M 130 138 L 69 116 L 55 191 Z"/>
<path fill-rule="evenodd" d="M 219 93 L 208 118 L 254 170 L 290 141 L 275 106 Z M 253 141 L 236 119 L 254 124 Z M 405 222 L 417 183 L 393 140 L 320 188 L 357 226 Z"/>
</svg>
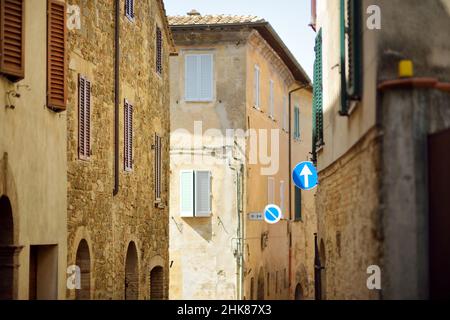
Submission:
<svg viewBox="0 0 450 320">
<path fill-rule="evenodd" d="M 9 199 L 0 198 L 0 300 L 14 299 L 14 223 Z"/>
</svg>

